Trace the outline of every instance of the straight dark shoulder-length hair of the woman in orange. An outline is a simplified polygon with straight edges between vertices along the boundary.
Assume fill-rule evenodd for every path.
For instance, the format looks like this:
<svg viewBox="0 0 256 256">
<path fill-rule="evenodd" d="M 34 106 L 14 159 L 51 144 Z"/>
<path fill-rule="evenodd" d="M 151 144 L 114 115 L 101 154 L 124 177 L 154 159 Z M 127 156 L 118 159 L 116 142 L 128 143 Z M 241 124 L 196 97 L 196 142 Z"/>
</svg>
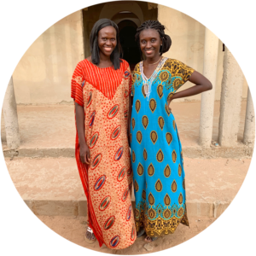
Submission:
<svg viewBox="0 0 256 256">
<path fill-rule="evenodd" d="M 112 54 L 110 55 L 110 60 L 113 62 L 114 69 L 119 69 L 120 62 L 122 62 L 119 57 L 122 55 L 122 48 L 119 42 L 119 27 L 112 21 L 108 19 L 101 19 L 96 21 L 92 30 L 90 32 L 90 53 L 91 53 L 91 61 L 93 64 L 98 65 L 100 63 L 100 52 L 98 46 L 98 32 L 104 28 L 105 26 L 113 26 L 116 31 L 116 47 L 113 49 Z"/>
</svg>

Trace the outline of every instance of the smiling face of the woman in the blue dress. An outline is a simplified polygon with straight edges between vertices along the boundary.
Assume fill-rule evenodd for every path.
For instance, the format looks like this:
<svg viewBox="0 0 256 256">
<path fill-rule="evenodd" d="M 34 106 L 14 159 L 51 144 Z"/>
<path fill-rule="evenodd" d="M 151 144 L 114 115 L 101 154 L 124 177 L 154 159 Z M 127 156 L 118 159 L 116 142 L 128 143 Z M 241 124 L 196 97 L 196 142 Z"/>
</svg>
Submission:
<svg viewBox="0 0 256 256">
<path fill-rule="evenodd" d="M 154 58 L 160 55 L 162 40 L 155 29 L 148 28 L 140 33 L 140 47 L 146 58 Z"/>
</svg>

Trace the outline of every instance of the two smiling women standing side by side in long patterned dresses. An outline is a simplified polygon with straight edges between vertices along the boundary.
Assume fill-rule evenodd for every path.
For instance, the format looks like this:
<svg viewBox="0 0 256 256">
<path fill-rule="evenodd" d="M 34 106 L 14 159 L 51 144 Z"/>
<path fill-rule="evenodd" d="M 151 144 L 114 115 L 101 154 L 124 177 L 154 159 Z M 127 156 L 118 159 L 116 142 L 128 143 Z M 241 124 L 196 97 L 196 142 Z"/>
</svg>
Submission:
<svg viewBox="0 0 256 256">
<path fill-rule="evenodd" d="M 136 39 L 146 59 L 131 80 L 128 63 L 119 59 L 118 27 L 98 20 L 90 34 L 91 56 L 79 62 L 72 79 L 76 160 L 88 201 L 86 239 L 96 236 L 100 246 L 115 249 L 129 247 L 137 232 L 153 241 L 173 233 L 179 223 L 189 224 L 182 148 L 169 105 L 212 88 L 194 69 L 162 56 L 172 42 L 159 21 L 144 22 Z M 196 85 L 175 93 L 187 80 Z"/>
</svg>

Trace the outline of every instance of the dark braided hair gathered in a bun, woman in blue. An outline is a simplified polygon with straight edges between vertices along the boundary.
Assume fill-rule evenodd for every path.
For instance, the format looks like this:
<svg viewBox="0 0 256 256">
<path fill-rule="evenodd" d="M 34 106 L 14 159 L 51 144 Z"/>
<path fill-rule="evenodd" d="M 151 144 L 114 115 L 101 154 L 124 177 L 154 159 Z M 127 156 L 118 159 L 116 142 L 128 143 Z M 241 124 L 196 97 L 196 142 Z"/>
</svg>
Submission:
<svg viewBox="0 0 256 256">
<path fill-rule="evenodd" d="M 142 50 L 140 48 L 140 40 L 139 40 L 140 33 L 143 30 L 148 29 L 148 28 L 155 29 L 157 32 L 159 32 L 159 35 L 160 35 L 160 38 L 162 39 L 162 44 L 163 44 L 162 46 L 160 46 L 160 55 L 167 52 L 172 45 L 172 40 L 168 35 L 166 35 L 165 26 L 161 25 L 158 20 L 146 20 L 145 22 L 143 22 L 143 24 L 141 26 L 139 26 L 137 28 L 137 33 L 135 35 L 135 41 L 139 45 L 141 56 L 142 56 Z"/>
</svg>

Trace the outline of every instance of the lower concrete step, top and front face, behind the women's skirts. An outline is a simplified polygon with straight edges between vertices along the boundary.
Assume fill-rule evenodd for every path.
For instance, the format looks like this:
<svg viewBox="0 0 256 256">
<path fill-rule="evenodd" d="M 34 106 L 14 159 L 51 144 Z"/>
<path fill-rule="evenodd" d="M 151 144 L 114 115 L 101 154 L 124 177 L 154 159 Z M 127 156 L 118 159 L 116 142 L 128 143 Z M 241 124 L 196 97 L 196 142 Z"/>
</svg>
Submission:
<svg viewBox="0 0 256 256">
<path fill-rule="evenodd" d="M 34 215 L 87 214 L 74 158 L 4 158 L 10 181 Z M 189 216 L 219 218 L 236 199 L 252 159 L 184 157 Z M 134 201 L 134 195 L 132 195 Z"/>
</svg>

